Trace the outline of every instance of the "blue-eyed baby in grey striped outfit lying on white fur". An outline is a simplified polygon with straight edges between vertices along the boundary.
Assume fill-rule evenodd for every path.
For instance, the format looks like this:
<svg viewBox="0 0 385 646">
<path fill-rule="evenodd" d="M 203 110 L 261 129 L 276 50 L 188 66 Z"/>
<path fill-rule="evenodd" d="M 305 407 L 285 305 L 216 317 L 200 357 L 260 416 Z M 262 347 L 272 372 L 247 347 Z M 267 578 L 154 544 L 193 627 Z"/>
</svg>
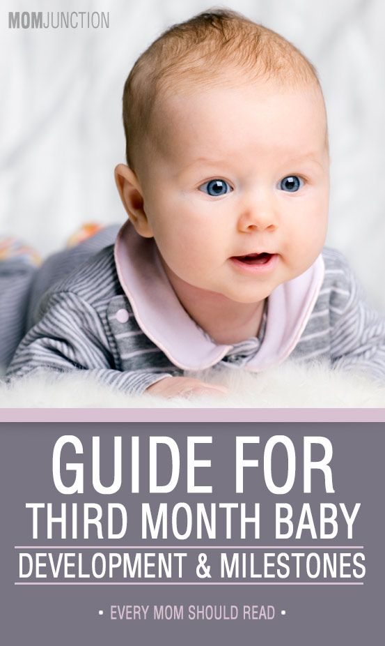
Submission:
<svg viewBox="0 0 385 646">
<path fill-rule="evenodd" d="M 236 13 L 202 13 L 136 61 L 123 121 L 129 221 L 114 246 L 107 230 L 61 255 L 62 274 L 89 257 L 40 300 L 10 377 L 82 369 L 171 397 L 223 390 L 185 375 L 292 356 L 385 380 L 384 318 L 323 250 L 327 118 L 301 52 Z M 52 261 L 38 273 L 46 288 Z"/>
</svg>

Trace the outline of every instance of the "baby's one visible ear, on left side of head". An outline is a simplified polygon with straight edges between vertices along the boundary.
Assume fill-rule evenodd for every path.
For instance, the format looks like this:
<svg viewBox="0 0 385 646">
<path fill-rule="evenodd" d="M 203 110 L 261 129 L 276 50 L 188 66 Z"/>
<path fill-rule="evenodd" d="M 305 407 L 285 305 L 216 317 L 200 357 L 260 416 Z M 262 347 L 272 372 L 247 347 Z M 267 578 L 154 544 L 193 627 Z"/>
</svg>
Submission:
<svg viewBox="0 0 385 646">
<path fill-rule="evenodd" d="M 136 232 L 143 238 L 152 238 L 152 228 L 143 208 L 143 195 L 136 174 L 125 164 L 118 164 L 115 169 L 115 181 L 120 199 Z"/>
</svg>

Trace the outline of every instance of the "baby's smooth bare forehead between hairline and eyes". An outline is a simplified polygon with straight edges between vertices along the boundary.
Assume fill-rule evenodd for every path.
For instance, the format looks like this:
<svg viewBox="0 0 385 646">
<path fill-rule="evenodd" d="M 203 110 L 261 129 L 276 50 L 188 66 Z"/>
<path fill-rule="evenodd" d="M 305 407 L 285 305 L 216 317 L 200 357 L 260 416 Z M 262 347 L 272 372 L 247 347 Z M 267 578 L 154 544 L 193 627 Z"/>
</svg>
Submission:
<svg viewBox="0 0 385 646">
<path fill-rule="evenodd" d="M 230 160 L 239 165 L 241 152 L 246 167 L 256 155 L 289 162 L 305 157 L 306 151 L 322 158 L 327 151 L 322 93 L 313 87 L 260 86 L 238 79 L 193 83 L 164 93 L 148 129 L 145 163 L 149 167 L 155 153 L 173 169 L 201 161 L 225 167 Z"/>
</svg>

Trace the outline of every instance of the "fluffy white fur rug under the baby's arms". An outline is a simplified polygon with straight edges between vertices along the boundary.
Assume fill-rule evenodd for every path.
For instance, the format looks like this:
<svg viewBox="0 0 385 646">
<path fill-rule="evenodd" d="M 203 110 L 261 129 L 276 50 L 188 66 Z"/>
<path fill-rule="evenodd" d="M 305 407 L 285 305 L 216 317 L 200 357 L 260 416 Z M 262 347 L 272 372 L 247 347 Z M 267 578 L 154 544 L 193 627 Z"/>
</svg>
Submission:
<svg viewBox="0 0 385 646">
<path fill-rule="evenodd" d="M 194 375 L 196 376 L 196 375 Z M 201 378 L 228 386 L 227 396 L 163 399 L 129 396 L 103 386 L 86 373 L 40 373 L 12 385 L 0 383 L 0 407 L 81 408 L 384 408 L 385 384 L 363 375 L 329 370 L 322 364 L 299 366 L 286 362 L 253 375 L 242 370 L 210 370 Z"/>
</svg>

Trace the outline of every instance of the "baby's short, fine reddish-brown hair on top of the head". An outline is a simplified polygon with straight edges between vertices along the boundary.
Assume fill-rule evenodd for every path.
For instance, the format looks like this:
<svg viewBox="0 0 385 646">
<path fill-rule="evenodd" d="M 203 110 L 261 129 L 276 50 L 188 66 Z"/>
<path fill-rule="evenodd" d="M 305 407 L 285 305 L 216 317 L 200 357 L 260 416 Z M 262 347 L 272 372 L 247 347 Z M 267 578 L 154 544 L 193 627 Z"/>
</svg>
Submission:
<svg viewBox="0 0 385 646">
<path fill-rule="evenodd" d="M 228 70 L 233 78 L 227 77 Z M 169 115 L 168 97 L 196 89 L 244 85 L 269 77 L 282 84 L 319 84 L 308 59 L 283 36 L 227 9 L 213 9 L 173 25 L 136 61 L 123 93 L 126 156 L 134 157 L 150 126 Z M 318 85 L 320 91 L 320 87 Z M 165 117 L 166 114 L 166 117 Z"/>
</svg>

